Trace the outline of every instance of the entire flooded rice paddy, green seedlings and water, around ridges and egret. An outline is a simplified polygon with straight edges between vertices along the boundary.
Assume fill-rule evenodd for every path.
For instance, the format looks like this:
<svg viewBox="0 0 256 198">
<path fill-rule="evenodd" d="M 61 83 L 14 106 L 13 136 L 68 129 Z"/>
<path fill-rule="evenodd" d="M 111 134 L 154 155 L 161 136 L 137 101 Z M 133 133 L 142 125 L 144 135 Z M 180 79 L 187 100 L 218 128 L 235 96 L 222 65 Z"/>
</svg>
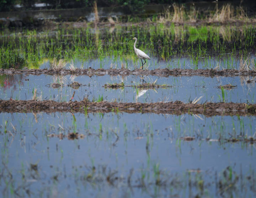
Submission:
<svg viewBox="0 0 256 198">
<path fill-rule="evenodd" d="M 2 30 L 1 68 L 55 71 L 0 71 L 0 103 L 19 100 L 28 107 L 0 111 L 2 197 L 255 197 L 255 33 L 253 25 L 172 24 Z M 134 36 L 151 57 L 147 70 L 237 72 L 70 74 L 76 68 L 139 68 L 127 41 Z M 52 68 L 54 58 L 65 59 L 70 73 Z M 47 111 L 32 107 L 37 101 Z M 44 101 L 93 107 L 53 111 Z M 194 109 L 211 102 L 218 113 L 206 114 L 208 106 L 202 113 L 142 108 L 175 101 Z M 102 102 L 108 106 L 90 109 Z M 121 103 L 143 105 L 138 111 L 111 109 Z M 232 105 L 254 112 L 225 113 Z"/>
</svg>

